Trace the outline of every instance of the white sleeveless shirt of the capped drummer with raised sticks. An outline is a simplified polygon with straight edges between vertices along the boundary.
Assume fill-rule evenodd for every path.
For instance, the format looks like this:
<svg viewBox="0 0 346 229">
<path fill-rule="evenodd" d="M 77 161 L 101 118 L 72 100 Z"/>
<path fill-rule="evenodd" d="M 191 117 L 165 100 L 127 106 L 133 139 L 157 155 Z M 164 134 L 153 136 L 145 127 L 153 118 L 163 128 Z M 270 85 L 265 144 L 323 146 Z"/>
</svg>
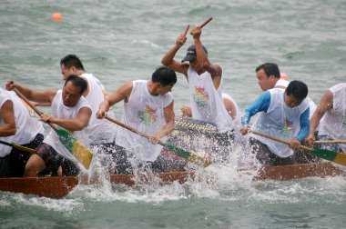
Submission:
<svg viewBox="0 0 346 229">
<path fill-rule="evenodd" d="M 216 124 L 220 133 L 233 130 L 235 124 L 229 116 L 222 101 L 222 84 L 216 89 L 209 72 L 201 75 L 191 67 L 188 67 L 188 87 L 192 117 L 194 119 Z"/>
</svg>

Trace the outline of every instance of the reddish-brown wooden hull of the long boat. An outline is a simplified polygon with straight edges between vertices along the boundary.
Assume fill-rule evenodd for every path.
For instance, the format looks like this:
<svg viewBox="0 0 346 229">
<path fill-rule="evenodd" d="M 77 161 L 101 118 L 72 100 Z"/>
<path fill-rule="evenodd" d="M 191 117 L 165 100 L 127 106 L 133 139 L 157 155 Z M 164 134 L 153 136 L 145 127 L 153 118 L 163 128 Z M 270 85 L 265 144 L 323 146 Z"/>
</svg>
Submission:
<svg viewBox="0 0 346 229">
<path fill-rule="evenodd" d="M 244 171 L 244 169 L 239 169 Z M 326 177 L 345 175 L 345 171 L 331 163 L 292 164 L 285 166 L 262 167 L 255 180 L 291 180 L 306 177 Z M 159 173 L 160 184 L 171 184 L 177 181 L 180 184 L 188 179 L 194 179 L 194 172 Z M 134 185 L 132 174 L 110 175 L 112 184 Z M 141 177 L 140 183 L 149 183 L 146 176 Z M 97 184 L 97 178 L 63 176 L 63 177 L 36 177 L 36 178 L 0 178 L 0 191 L 11 193 L 35 194 L 50 198 L 62 198 L 69 194 L 77 184 Z"/>
</svg>

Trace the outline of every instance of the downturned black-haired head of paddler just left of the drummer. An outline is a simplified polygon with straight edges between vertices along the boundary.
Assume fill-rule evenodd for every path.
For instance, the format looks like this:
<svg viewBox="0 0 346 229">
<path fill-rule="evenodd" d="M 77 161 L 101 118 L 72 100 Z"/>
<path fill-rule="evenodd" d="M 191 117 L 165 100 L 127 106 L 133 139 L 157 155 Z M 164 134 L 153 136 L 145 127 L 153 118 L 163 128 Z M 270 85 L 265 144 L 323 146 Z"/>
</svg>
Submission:
<svg viewBox="0 0 346 229">
<path fill-rule="evenodd" d="M 177 83 L 177 75 L 172 69 L 165 66 L 158 67 L 153 75 L 151 81 L 157 85 L 158 95 L 165 95 L 172 90 L 172 87 Z"/>
</svg>

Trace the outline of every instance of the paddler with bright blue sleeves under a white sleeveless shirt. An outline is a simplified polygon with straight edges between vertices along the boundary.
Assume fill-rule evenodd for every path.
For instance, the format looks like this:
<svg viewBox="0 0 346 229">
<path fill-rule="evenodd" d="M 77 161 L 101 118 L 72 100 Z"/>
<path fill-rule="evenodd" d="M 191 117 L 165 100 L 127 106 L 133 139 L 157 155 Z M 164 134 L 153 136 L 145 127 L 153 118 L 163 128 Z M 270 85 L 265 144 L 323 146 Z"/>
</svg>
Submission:
<svg viewBox="0 0 346 229">
<path fill-rule="evenodd" d="M 249 133 L 251 116 L 260 113 L 251 130 L 269 134 L 290 141 L 290 146 L 251 134 L 249 143 L 256 157 L 264 165 L 295 164 L 293 150 L 309 134 L 309 102 L 306 100 L 308 86 L 300 81 L 292 81 L 286 90 L 273 88 L 260 95 L 245 110 L 242 118 L 241 134 Z"/>
</svg>

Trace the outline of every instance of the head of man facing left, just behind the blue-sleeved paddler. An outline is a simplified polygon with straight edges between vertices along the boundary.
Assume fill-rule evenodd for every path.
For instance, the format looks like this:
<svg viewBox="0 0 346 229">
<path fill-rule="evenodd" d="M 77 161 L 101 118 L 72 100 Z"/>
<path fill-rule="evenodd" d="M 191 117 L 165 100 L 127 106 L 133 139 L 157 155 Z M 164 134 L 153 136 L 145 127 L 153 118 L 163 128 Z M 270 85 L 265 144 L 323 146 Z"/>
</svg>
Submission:
<svg viewBox="0 0 346 229">
<path fill-rule="evenodd" d="M 274 88 L 276 82 L 280 79 L 279 66 L 274 63 L 265 63 L 256 68 L 256 75 L 260 89 L 267 91 Z"/>
</svg>

